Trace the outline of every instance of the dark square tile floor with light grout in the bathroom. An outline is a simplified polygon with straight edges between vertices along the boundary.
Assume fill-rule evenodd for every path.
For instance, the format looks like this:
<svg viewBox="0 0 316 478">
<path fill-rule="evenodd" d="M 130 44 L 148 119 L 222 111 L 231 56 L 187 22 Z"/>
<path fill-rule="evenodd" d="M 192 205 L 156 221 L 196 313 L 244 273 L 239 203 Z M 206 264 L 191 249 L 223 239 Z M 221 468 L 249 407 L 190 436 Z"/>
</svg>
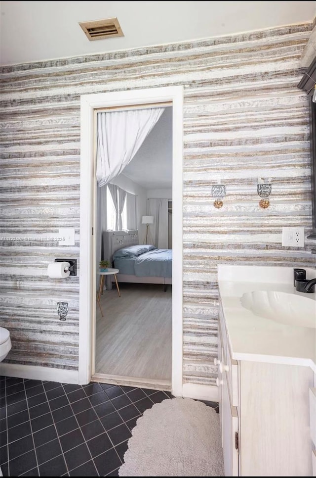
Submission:
<svg viewBox="0 0 316 478">
<path fill-rule="evenodd" d="M 171 397 L 105 383 L 0 377 L 3 476 L 117 477 L 137 418 Z"/>
</svg>

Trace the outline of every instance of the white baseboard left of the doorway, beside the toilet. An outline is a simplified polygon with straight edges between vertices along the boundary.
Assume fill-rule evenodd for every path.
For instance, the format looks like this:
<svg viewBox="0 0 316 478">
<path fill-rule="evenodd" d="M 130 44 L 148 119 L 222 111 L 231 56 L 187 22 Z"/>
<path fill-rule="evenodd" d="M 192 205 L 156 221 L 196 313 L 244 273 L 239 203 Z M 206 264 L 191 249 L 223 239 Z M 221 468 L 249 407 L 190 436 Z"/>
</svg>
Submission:
<svg viewBox="0 0 316 478">
<path fill-rule="evenodd" d="M 78 370 L 53 369 L 37 365 L 0 363 L 0 375 L 21 379 L 49 380 L 51 382 L 79 383 Z"/>
</svg>

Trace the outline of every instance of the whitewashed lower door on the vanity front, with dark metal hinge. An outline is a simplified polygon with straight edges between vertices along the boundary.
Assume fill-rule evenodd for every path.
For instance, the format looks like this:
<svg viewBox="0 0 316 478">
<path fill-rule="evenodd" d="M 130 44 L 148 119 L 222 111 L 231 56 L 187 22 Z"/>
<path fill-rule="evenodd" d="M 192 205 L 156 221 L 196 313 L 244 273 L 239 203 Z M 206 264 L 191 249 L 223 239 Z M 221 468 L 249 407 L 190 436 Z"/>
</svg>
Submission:
<svg viewBox="0 0 316 478">
<path fill-rule="evenodd" d="M 224 457 L 224 470 L 226 477 L 238 476 L 238 450 L 236 449 L 236 433 L 238 442 L 238 415 L 237 408 L 232 407 L 227 386 L 226 374 L 222 375 L 223 385 L 221 386 L 222 407 L 221 426 L 222 444 Z"/>
</svg>

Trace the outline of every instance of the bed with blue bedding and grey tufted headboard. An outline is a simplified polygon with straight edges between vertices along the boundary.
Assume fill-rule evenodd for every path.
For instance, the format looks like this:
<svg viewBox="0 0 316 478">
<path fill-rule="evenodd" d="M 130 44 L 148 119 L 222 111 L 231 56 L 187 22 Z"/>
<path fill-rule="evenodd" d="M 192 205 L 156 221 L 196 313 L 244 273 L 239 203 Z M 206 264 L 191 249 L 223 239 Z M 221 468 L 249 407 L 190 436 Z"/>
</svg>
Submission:
<svg viewBox="0 0 316 478">
<path fill-rule="evenodd" d="M 172 250 L 139 244 L 138 231 L 104 231 L 103 254 L 119 270 L 118 282 L 172 284 Z"/>
</svg>

